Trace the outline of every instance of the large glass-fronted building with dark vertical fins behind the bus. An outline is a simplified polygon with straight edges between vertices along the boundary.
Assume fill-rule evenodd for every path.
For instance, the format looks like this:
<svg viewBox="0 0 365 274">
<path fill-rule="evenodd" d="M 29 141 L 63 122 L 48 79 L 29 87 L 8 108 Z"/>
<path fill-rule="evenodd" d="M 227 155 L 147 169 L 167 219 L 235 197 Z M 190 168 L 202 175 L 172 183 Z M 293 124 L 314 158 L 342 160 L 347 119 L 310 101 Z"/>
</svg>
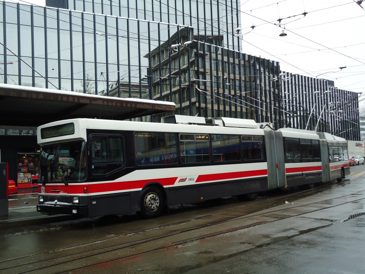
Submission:
<svg viewBox="0 0 365 274">
<path fill-rule="evenodd" d="M 360 136 L 357 94 L 242 53 L 238 0 L 46 4 L 0 1 L 1 83 L 170 101 L 176 114 Z"/>
</svg>

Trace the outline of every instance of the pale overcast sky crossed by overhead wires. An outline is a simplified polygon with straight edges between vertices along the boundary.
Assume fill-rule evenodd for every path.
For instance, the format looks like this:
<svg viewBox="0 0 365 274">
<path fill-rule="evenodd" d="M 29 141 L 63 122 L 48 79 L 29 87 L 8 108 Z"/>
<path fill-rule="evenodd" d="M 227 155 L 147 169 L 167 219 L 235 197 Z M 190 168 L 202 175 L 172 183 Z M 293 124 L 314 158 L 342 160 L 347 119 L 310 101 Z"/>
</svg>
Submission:
<svg viewBox="0 0 365 274">
<path fill-rule="evenodd" d="M 282 71 L 334 80 L 335 87 L 364 92 L 360 107 L 365 107 L 361 6 L 353 0 L 241 0 L 241 11 L 242 33 L 251 30 L 242 36 L 243 52 L 279 61 Z M 288 35 L 280 37 L 282 31 Z"/>
</svg>

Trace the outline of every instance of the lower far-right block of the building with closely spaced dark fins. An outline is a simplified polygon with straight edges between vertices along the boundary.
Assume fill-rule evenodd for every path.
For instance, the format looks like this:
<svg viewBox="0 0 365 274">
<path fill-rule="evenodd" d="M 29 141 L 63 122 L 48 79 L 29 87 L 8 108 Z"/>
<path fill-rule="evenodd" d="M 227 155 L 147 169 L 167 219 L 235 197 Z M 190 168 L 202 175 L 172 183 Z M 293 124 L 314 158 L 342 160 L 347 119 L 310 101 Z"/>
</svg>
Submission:
<svg viewBox="0 0 365 274">
<path fill-rule="evenodd" d="M 358 94 L 333 81 L 282 72 L 283 127 L 318 129 L 346 140 L 360 140 Z"/>
</svg>

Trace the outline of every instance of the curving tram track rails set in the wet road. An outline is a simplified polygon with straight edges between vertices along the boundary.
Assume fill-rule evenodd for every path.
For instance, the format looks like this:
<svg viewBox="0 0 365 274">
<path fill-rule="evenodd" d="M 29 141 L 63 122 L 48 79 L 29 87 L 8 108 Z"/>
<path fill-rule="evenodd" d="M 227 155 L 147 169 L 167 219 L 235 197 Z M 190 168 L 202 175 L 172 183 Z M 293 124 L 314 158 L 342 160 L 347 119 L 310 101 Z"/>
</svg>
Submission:
<svg viewBox="0 0 365 274">
<path fill-rule="evenodd" d="M 336 186 L 332 189 L 335 189 L 337 187 L 342 187 L 342 186 L 344 186 L 344 185 L 346 185 L 350 182 L 347 182 L 345 184 L 341 184 L 341 185 Z M 323 186 L 325 186 L 325 185 L 322 185 L 322 187 Z M 176 247 L 176 245 L 186 244 L 186 243 L 189 243 L 191 241 L 206 239 L 208 237 L 214 237 L 214 236 L 221 235 L 221 234 L 224 234 L 224 233 L 229 233 L 229 232 L 232 232 L 232 231 L 237 231 L 237 230 L 240 230 L 240 229 L 244 229 L 246 227 L 253 226 L 253 225 L 265 224 L 265 223 L 268 223 L 268 221 L 267 222 L 261 222 L 261 223 L 253 223 L 253 224 L 249 224 L 249 225 L 245 225 L 245 226 L 241 225 L 239 227 L 229 229 L 229 230 L 217 231 L 215 233 L 209 233 L 209 234 L 206 234 L 206 235 L 202 234 L 198 237 L 187 237 L 187 238 L 185 237 L 186 239 L 182 239 L 182 240 L 179 240 L 179 241 L 168 241 L 167 243 L 170 243 L 170 242 L 171 243 L 166 244 L 166 240 L 168 240 L 169 237 L 172 237 L 172 236 L 181 235 L 183 233 L 196 232 L 196 231 L 199 231 L 200 229 L 203 229 L 203 228 L 211 228 L 211 227 L 214 227 L 215 225 L 220 225 L 220 224 L 224 224 L 224 223 L 227 223 L 227 222 L 233 222 L 233 221 L 237 221 L 237 220 L 243 220 L 243 219 L 247 219 L 247 218 L 251 218 L 251 217 L 257 217 L 257 216 L 260 216 L 262 214 L 276 213 L 276 212 L 281 212 L 283 210 L 293 209 L 293 208 L 296 208 L 296 207 L 302 207 L 302 206 L 307 206 L 307 205 L 312 205 L 312 204 L 317 204 L 317 203 L 323 203 L 323 202 L 331 201 L 331 200 L 334 200 L 334 199 L 344 198 L 344 197 L 349 196 L 349 195 L 359 194 L 359 193 L 362 193 L 364 191 L 365 190 L 360 190 L 360 191 L 357 191 L 357 192 L 354 192 L 354 193 L 350 193 L 350 194 L 346 194 L 346 195 L 342 195 L 342 196 L 338 196 L 338 197 L 333 197 L 333 198 L 330 198 L 330 199 L 322 199 L 321 201 L 316 201 L 316 202 L 312 202 L 312 203 L 304 203 L 302 205 L 290 206 L 290 207 L 286 207 L 286 208 L 283 208 L 283 209 L 277 209 L 277 210 L 271 210 L 270 211 L 269 208 L 266 208 L 265 212 L 260 213 L 260 214 L 254 214 L 254 212 L 251 212 L 251 213 L 248 213 L 248 214 L 245 213 L 245 214 L 241 214 L 241 215 L 234 216 L 234 217 L 231 217 L 231 218 L 226 218 L 224 220 L 210 222 L 208 224 L 203 224 L 203 225 L 198 225 L 198 226 L 195 225 L 194 227 L 187 228 L 187 229 L 177 229 L 176 231 L 172 231 L 170 233 L 166 233 L 166 232 L 157 233 L 156 235 L 150 236 L 150 237 L 142 237 L 140 239 L 137 238 L 137 239 L 130 240 L 130 241 L 124 241 L 122 243 L 109 244 L 107 246 L 102 246 L 102 247 L 99 247 L 99 248 L 91 248 L 91 249 L 88 249 L 88 250 L 81 250 L 81 251 L 78 251 L 78 252 L 71 252 L 69 254 L 65 254 L 65 255 L 62 255 L 62 256 L 57 256 L 56 255 L 57 252 L 61 252 L 61 251 L 64 252 L 65 250 L 72 250 L 73 248 L 84 248 L 84 247 L 88 247 L 92 244 L 100 243 L 101 241 L 107 241 L 107 240 L 112 240 L 112 239 L 114 239 L 114 240 L 115 239 L 122 239 L 123 237 L 129 237 L 129 236 L 132 236 L 132 235 L 134 235 L 134 236 L 140 235 L 140 234 L 142 234 L 143 232 L 146 232 L 146 231 L 160 231 L 161 229 L 172 228 L 172 227 L 175 227 L 179 224 L 186 224 L 189 221 L 191 222 L 191 221 L 202 220 L 202 219 L 211 217 L 213 214 L 207 214 L 207 215 L 204 215 L 204 216 L 197 216 L 195 218 L 181 220 L 181 221 L 178 221 L 178 222 L 172 222 L 170 224 L 165 224 L 165 225 L 162 225 L 160 227 L 155 227 L 155 228 L 152 228 L 152 229 L 149 228 L 149 229 L 130 232 L 130 233 L 125 233 L 125 234 L 121 234 L 121 235 L 115 235 L 115 236 L 112 236 L 112 237 L 106 237 L 104 239 L 89 241 L 87 243 L 82 243 L 82 244 L 78 244 L 78 245 L 74 245 L 74 246 L 61 248 L 61 249 L 58 249 L 58 250 L 45 251 L 45 252 L 40 252 L 38 254 L 32 254 L 32 255 L 27 255 L 27 256 L 21 256 L 21 257 L 14 258 L 14 259 L 4 260 L 4 261 L 0 262 L 0 271 L 2 271 L 2 270 L 14 271 L 15 270 L 17 273 L 31 273 L 31 272 L 36 272 L 36 271 L 47 270 L 47 272 L 49 272 L 49 273 L 58 273 L 57 269 L 54 269 L 54 268 L 57 268 L 58 266 L 64 265 L 64 264 L 67 264 L 67 263 L 70 264 L 70 263 L 76 263 L 76 262 L 77 262 L 78 266 L 80 266 L 80 265 L 83 265 L 83 266 L 82 267 L 73 267 L 73 268 L 70 267 L 70 269 L 67 269 L 67 270 L 64 270 L 64 271 L 61 271 L 61 272 L 80 270 L 80 269 L 83 269 L 83 268 L 86 268 L 86 267 L 93 267 L 93 266 L 97 266 L 97 265 L 100 265 L 100 264 L 113 262 L 115 260 L 123 260 L 123 259 L 127 259 L 127 258 L 132 258 L 134 256 L 140 256 L 140 255 L 143 255 L 143 254 L 147 254 L 149 252 L 164 250 L 166 248 L 173 248 L 173 247 Z M 274 201 L 276 199 L 283 199 L 283 198 L 287 198 L 287 197 L 292 197 L 296 194 L 297 193 L 290 194 L 290 195 L 284 195 L 284 196 L 269 199 L 269 200 Z M 311 196 L 318 195 L 318 194 L 319 193 L 315 193 L 313 195 L 308 195 L 307 197 L 311 197 Z M 299 201 L 300 199 L 298 199 L 297 201 Z M 354 199 L 351 202 L 360 201 L 362 199 L 364 199 L 364 198 Z M 292 200 L 291 202 L 295 202 L 295 201 L 296 200 Z M 260 204 L 260 203 L 267 203 L 267 202 L 268 202 L 268 199 L 265 199 L 264 201 L 258 201 L 258 202 L 250 203 L 250 205 L 255 205 L 255 204 Z M 347 203 L 347 201 L 346 201 L 346 203 Z M 297 216 L 300 216 L 302 214 L 316 212 L 318 210 L 332 208 L 332 207 L 340 206 L 340 205 L 343 205 L 343 204 L 345 204 L 345 203 L 340 203 L 338 205 L 333 205 L 333 206 L 323 206 L 320 209 L 308 211 L 308 212 L 301 213 L 301 214 L 296 214 L 296 215 L 293 215 L 293 216 L 288 216 L 287 218 L 297 217 Z M 242 205 L 242 206 L 238 206 L 238 207 L 235 207 L 235 208 L 230 208 L 230 209 L 227 209 L 227 210 L 221 210 L 221 211 L 216 212 L 214 214 L 220 214 L 220 213 L 224 213 L 224 212 L 231 211 L 231 210 L 237 210 L 237 209 L 240 209 L 240 208 L 244 208 L 245 206 L 249 206 L 249 205 Z M 276 206 L 278 206 L 278 205 L 274 205 L 271 208 L 276 207 Z M 283 219 L 284 218 L 282 218 L 280 220 L 283 220 Z M 274 221 L 276 221 L 276 220 L 273 220 L 273 221 L 270 221 L 270 222 L 274 222 Z M 154 244 L 153 246 L 158 246 L 158 247 L 149 248 L 144 252 L 139 252 L 139 253 L 131 252 L 131 254 L 128 253 L 128 254 L 125 254 L 124 256 L 118 255 L 117 258 L 111 258 L 111 259 L 107 259 L 107 260 L 103 259 L 103 260 L 101 260 L 101 262 L 97 262 L 97 263 L 94 263 L 94 264 L 89 264 L 88 263 L 87 266 L 85 266 L 83 263 L 81 263 L 82 260 L 88 260 L 88 259 L 91 259 L 91 258 L 95 259 L 96 256 L 103 256 L 103 255 L 105 256 L 105 254 L 108 254 L 108 253 L 110 254 L 111 252 L 118 252 L 118 251 L 126 252 L 128 249 L 131 249 L 131 248 L 134 248 L 134 247 L 137 247 L 137 246 L 141 246 L 142 244 L 145 244 L 145 245 L 150 244 L 150 243 L 153 243 L 153 242 L 156 242 L 156 241 L 159 241 L 159 240 L 160 241 L 165 240 L 165 241 L 163 243 L 161 243 L 159 246 L 158 246 L 158 244 L 156 244 L 156 245 Z M 50 258 L 44 258 L 44 259 L 37 259 L 36 258 L 36 256 L 49 256 L 49 255 L 53 255 L 53 254 L 56 255 L 56 256 L 50 256 Z M 31 260 L 28 260 L 28 259 L 31 259 Z M 33 260 L 33 259 L 35 259 L 35 260 Z M 27 262 L 21 262 L 23 260 L 28 260 L 28 261 Z M 48 263 L 48 262 L 50 262 L 50 263 Z M 8 264 L 8 266 L 5 266 L 6 264 Z M 45 264 L 45 265 L 42 266 L 42 264 Z M 27 270 L 24 271 L 25 270 L 24 268 L 26 268 Z"/>
</svg>

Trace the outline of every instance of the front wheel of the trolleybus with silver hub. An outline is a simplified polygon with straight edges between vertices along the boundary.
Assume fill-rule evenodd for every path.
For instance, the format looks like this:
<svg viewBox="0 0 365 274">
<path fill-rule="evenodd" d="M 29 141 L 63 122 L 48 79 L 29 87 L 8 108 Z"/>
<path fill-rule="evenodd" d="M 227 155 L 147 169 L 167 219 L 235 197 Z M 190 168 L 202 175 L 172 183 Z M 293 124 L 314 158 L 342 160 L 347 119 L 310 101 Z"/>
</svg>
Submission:
<svg viewBox="0 0 365 274">
<path fill-rule="evenodd" d="M 164 205 L 164 193 L 158 187 L 147 187 L 141 195 L 141 211 L 139 214 L 143 218 L 155 218 L 162 213 Z"/>
</svg>

